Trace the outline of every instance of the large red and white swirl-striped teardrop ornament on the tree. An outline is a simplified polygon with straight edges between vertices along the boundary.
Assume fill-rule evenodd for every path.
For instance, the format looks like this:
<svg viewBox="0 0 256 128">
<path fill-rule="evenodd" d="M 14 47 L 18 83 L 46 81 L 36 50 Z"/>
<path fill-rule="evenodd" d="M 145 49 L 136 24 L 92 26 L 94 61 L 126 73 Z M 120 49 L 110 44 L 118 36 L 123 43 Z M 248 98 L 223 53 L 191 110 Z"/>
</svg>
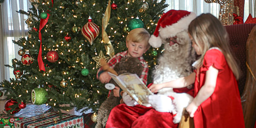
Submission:
<svg viewBox="0 0 256 128">
<path fill-rule="evenodd" d="M 99 35 L 99 26 L 92 22 L 92 18 L 88 18 L 88 22 L 82 28 L 82 35 L 93 45 L 93 41 Z"/>
</svg>

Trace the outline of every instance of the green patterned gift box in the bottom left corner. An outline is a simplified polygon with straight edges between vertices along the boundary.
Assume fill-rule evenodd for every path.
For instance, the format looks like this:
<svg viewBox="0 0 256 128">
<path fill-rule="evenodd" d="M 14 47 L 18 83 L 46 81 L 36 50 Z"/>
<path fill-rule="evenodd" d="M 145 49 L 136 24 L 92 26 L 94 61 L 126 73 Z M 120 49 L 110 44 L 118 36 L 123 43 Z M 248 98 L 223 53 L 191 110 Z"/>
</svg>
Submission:
<svg viewBox="0 0 256 128">
<path fill-rule="evenodd" d="M 20 119 L 23 119 L 23 117 L 0 114 L 0 128 L 14 128 L 14 122 Z"/>
</svg>

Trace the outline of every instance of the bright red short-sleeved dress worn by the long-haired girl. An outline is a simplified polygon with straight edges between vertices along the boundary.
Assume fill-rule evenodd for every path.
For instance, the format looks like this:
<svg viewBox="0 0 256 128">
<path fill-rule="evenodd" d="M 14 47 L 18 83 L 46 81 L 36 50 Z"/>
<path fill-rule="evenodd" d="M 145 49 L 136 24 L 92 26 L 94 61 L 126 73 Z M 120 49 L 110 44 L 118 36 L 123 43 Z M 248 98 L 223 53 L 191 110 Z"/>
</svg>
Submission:
<svg viewBox="0 0 256 128">
<path fill-rule="evenodd" d="M 204 85 L 210 66 L 219 71 L 216 87 L 212 96 L 198 106 L 194 116 L 195 128 L 244 128 L 237 81 L 220 50 L 210 49 L 206 52 L 200 73 L 195 77 L 195 96 Z"/>
</svg>

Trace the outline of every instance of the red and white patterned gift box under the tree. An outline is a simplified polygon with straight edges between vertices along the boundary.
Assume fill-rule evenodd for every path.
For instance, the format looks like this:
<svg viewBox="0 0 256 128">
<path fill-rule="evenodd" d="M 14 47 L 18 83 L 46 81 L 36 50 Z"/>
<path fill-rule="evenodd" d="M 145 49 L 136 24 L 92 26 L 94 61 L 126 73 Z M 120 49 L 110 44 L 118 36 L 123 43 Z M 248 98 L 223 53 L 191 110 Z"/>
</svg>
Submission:
<svg viewBox="0 0 256 128">
<path fill-rule="evenodd" d="M 15 121 L 15 128 L 84 128 L 84 119 L 83 116 L 47 112 Z"/>
</svg>

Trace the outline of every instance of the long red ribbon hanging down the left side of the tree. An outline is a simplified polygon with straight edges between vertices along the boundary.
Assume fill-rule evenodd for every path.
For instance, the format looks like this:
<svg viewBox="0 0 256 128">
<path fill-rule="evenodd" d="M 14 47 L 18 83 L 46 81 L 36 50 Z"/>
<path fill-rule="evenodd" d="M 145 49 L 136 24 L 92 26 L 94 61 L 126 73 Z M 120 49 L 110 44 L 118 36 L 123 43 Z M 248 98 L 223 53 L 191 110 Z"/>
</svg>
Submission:
<svg viewBox="0 0 256 128">
<path fill-rule="evenodd" d="M 45 67 L 44 67 L 44 62 L 42 59 L 42 34 L 41 34 L 41 29 L 44 28 L 44 26 L 46 25 L 46 23 L 48 22 L 49 19 L 49 14 L 47 13 L 47 18 L 45 19 L 41 19 L 40 20 L 40 26 L 39 26 L 39 40 L 40 40 L 40 48 L 39 48 L 39 53 L 38 53 L 38 66 L 40 70 L 45 71 Z"/>
</svg>

